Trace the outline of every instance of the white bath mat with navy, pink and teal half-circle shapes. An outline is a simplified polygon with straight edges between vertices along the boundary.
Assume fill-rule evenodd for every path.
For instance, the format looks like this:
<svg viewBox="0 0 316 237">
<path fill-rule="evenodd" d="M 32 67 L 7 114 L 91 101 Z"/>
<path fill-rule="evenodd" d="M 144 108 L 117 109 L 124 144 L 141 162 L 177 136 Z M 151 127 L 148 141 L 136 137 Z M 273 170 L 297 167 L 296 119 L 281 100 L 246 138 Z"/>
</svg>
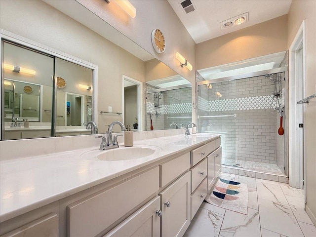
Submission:
<svg viewBox="0 0 316 237">
<path fill-rule="evenodd" d="M 219 178 L 205 197 L 210 204 L 236 211 L 248 213 L 248 185 Z"/>
</svg>

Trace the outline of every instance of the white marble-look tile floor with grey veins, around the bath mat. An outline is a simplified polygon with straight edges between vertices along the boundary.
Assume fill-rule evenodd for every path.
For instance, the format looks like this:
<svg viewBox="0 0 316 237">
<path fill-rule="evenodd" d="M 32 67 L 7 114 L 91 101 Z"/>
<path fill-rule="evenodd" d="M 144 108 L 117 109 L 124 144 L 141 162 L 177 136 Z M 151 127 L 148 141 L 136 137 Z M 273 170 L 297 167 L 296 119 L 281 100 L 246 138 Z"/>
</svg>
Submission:
<svg viewBox="0 0 316 237">
<path fill-rule="evenodd" d="M 221 173 L 248 184 L 248 214 L 203 202 L 184 237 L 315 237 L 304 210 L 304 190 L 286 183 Z"/>
</svg>

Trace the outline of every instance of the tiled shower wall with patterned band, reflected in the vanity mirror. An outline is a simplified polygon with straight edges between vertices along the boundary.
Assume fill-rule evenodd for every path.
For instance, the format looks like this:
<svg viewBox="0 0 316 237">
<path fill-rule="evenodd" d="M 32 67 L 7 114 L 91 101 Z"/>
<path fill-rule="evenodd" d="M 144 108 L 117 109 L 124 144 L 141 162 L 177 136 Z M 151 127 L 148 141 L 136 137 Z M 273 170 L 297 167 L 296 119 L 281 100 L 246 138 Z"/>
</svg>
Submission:
<svg viewBox="0 0 316 237">
<path fill-rule="evenodd" d="M 145 87 L 146 91 L 156 89 L 148 84 L 146 84 Z M 155 93 L 146 94 L 146 97 L 147 102 L 145 114 L 153 114 L 152 119 L 154 130 L 174 129 L 174 126 L 170 127 L 170 123 L 172 122 L 177 123 L 179 128 L 180 124 L 183 123 L 184 125 L 187 125 L 191 122 L 192 118 L 169 118 L 192 117 L 191 87 L 164 91 L 159 97 L 159 107 L 155 107 Z M 150 116 L 147 115 L 146 119 L 146 130 L 150 130 Z"/>
</svg>

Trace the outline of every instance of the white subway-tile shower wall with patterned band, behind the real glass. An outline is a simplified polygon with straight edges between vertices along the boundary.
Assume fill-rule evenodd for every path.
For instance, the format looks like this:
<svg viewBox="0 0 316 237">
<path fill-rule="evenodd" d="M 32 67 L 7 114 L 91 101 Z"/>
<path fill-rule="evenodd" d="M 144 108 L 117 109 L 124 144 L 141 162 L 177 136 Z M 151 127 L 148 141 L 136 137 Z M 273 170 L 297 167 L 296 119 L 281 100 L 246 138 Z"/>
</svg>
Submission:
<svg viewBox="0 0 316 237">
<path fill-rule="evenodd" d="M 217 92 L 222 97 L 219 97 Z M 236 118 L 199 118 L 201 132 L 228 132 L 223 135 L 223 158 L 235 159 L 236 146 L 236 156 L 239 160 L 277 163 L 276 117 L 279 118 L 279 114 L 270 112 L 273 92 L 274 84 L 269 78 L 261 76 L 213 83 L 212 89 L 208 89 L 208 97 L 202 95 L 203 99 L 199 94 L 199 116 L 237 115 Z M 208 101 L 205 98 L 208 98 Z"/>
</svg>

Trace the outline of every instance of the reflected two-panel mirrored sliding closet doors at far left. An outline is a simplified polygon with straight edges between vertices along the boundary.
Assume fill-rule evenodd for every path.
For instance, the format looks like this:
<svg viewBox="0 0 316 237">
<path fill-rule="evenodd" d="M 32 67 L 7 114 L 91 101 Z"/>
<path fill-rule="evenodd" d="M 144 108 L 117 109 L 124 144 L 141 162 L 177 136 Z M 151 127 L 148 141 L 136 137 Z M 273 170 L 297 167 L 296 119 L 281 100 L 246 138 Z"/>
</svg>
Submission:
<svg viewBox="0 0 316 237">
<path fill-rule="evenodd" d="M 5 40 L 3 61 L 3 140 L 52 136 L 55 68 L 55 136 L 90 133 L 83 125 L 92 118 L 91 69 Z M 27 130 L 20 128 L 25 126 L 25 121 L 29 124 Z M 67 126 L 72 127 L 68 129 Z M 70 131 L 74 128 L 80 131 Z"/>
</svg>

